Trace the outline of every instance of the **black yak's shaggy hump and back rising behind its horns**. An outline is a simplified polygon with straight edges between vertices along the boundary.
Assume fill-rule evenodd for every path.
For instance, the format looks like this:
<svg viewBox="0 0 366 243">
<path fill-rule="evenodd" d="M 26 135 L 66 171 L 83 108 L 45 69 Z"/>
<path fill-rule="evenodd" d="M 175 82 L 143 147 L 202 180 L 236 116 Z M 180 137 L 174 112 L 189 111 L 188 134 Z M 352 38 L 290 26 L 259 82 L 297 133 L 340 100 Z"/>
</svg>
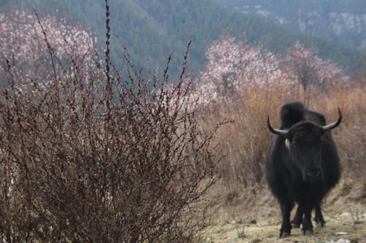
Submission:
<svg viewBox="0 0 366 243">
<path fill-rule="evenodd" d="M 281 107 L 281 128 L 290 128 L 300 121 L 312 121 L 324 126 L 326 124 L 324 115 L 307 109 L 299 101 L 289 102 Z"/>
</svg>

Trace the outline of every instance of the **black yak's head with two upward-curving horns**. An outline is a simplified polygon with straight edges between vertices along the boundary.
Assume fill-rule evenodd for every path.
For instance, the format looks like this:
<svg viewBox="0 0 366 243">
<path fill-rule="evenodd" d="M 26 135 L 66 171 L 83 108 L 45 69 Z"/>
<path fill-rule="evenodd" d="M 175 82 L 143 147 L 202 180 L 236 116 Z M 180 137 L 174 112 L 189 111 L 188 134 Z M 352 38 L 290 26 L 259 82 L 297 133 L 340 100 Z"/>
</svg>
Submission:
<svg viewBox="0 0 366 243">
<path fill-rule="evenodd" d="M 338 112 L 338 120 L 332 124 L 320 126 L 311 121 L 301 121 L 289 130 L 272 128 L 268 117 L 269 130 L 286 138 L 285 146 L 289 150 L 291 161 L 301 170 L 304 181 L 315 182 L 323 176 L 320 166 L 323 135 L 341 123 L 342 114 L 339 108 Z"/>
</svg>

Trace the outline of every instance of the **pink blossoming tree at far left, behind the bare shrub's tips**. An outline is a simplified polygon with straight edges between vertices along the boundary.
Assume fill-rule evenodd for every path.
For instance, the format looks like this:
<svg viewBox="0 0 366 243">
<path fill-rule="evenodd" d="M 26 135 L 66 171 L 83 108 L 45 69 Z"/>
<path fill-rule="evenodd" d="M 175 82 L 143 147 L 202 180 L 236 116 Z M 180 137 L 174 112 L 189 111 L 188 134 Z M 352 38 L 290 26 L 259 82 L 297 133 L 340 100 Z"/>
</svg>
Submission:
<svg viewBox="0 0 366 243">
<path fill-rule="evenodd" d="M 23 80 L 17 84 L 18 89 L 29 84 L 50 85 L 53 68 L 69 77 L 81 70 L 88 72 L 95 65 L 96 38 L 88 31 L 68 25 L 65 19 L 48 15 L 40 19 L 40 24 L 35 14 L 16 11 L 1 14 L 0 23 L 0 84 L 6 83 L 8 77 L 5 60 L 16 70 L 17 80 Z M 66 57 L 73 61 L 61 65 Z M 82 63 L 85 68 L 75 70 Z M 58 70 L 62 66 L 68 69 Z"/>
</svg>

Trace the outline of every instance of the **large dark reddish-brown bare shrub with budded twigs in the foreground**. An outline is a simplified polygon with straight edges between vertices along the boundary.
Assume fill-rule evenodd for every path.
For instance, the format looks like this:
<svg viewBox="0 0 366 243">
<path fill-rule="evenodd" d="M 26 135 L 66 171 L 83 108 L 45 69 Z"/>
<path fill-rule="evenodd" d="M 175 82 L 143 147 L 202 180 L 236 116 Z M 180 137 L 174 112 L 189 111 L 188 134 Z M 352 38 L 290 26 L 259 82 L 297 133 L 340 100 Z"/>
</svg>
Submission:
<svg viewBox="0 0 366 243">
<path fill-rule="evenodd" d="M 188 109 L 185 62 L 169 89 L 168 66 L 163 80 L 145 81 L 128 55 L 122 78 L 109 62 L 106 8 L 105 66 L 77 45 L 58 62 L 43 28 L 49 86 L 4 65 L 1 242 L 185 242 L 205 226 L 212 202 L 201 196 L 216 180 L 220 124 L 205 132 Z"/>
</svg>

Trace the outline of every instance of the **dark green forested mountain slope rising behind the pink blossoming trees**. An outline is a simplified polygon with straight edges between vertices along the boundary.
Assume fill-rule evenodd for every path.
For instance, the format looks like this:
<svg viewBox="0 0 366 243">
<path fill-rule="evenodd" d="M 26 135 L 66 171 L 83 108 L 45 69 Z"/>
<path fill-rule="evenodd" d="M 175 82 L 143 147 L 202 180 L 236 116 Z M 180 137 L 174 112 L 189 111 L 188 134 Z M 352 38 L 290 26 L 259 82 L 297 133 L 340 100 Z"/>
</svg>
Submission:
<svg viewBox="0 0 366 243">
<path fill-rule="evenodd" d="M 151 66 L 155 62 L 164 65 L 174 50 L 169 69 L 173 77 L 177 77 L 182 66 L 190 36 L 193 35 L 193 44 L 188 69 L 197 74 L 205 61 L 207 46 L 226 29 L 235 36 L 245 31 L 250 43 L 260 43 L 275 53 L 285 51 L 299 40 L 305 45 L 314 44 L 321 57 L 331 58 L 342 65 L 357 68 L 361 63 L 358 53 L 352 48 L 288 31 L 279 24 L 243 14 L 216 0 L 109 0 L 109 5 L 113 60 L 120 60 L 122 55 L 116 35 L 127 44 L 138 67 L 146 67 L 147 58 Z M 105 39 L 104 6 L 104 0 L 0 0 L 1 13 L 14 9 L 32 11 L 35 8 L 45 15 L 50 9 L 58 9 L 57 14 L 68 21 L 95 30 L 100 45 Z"/>
</svg>

